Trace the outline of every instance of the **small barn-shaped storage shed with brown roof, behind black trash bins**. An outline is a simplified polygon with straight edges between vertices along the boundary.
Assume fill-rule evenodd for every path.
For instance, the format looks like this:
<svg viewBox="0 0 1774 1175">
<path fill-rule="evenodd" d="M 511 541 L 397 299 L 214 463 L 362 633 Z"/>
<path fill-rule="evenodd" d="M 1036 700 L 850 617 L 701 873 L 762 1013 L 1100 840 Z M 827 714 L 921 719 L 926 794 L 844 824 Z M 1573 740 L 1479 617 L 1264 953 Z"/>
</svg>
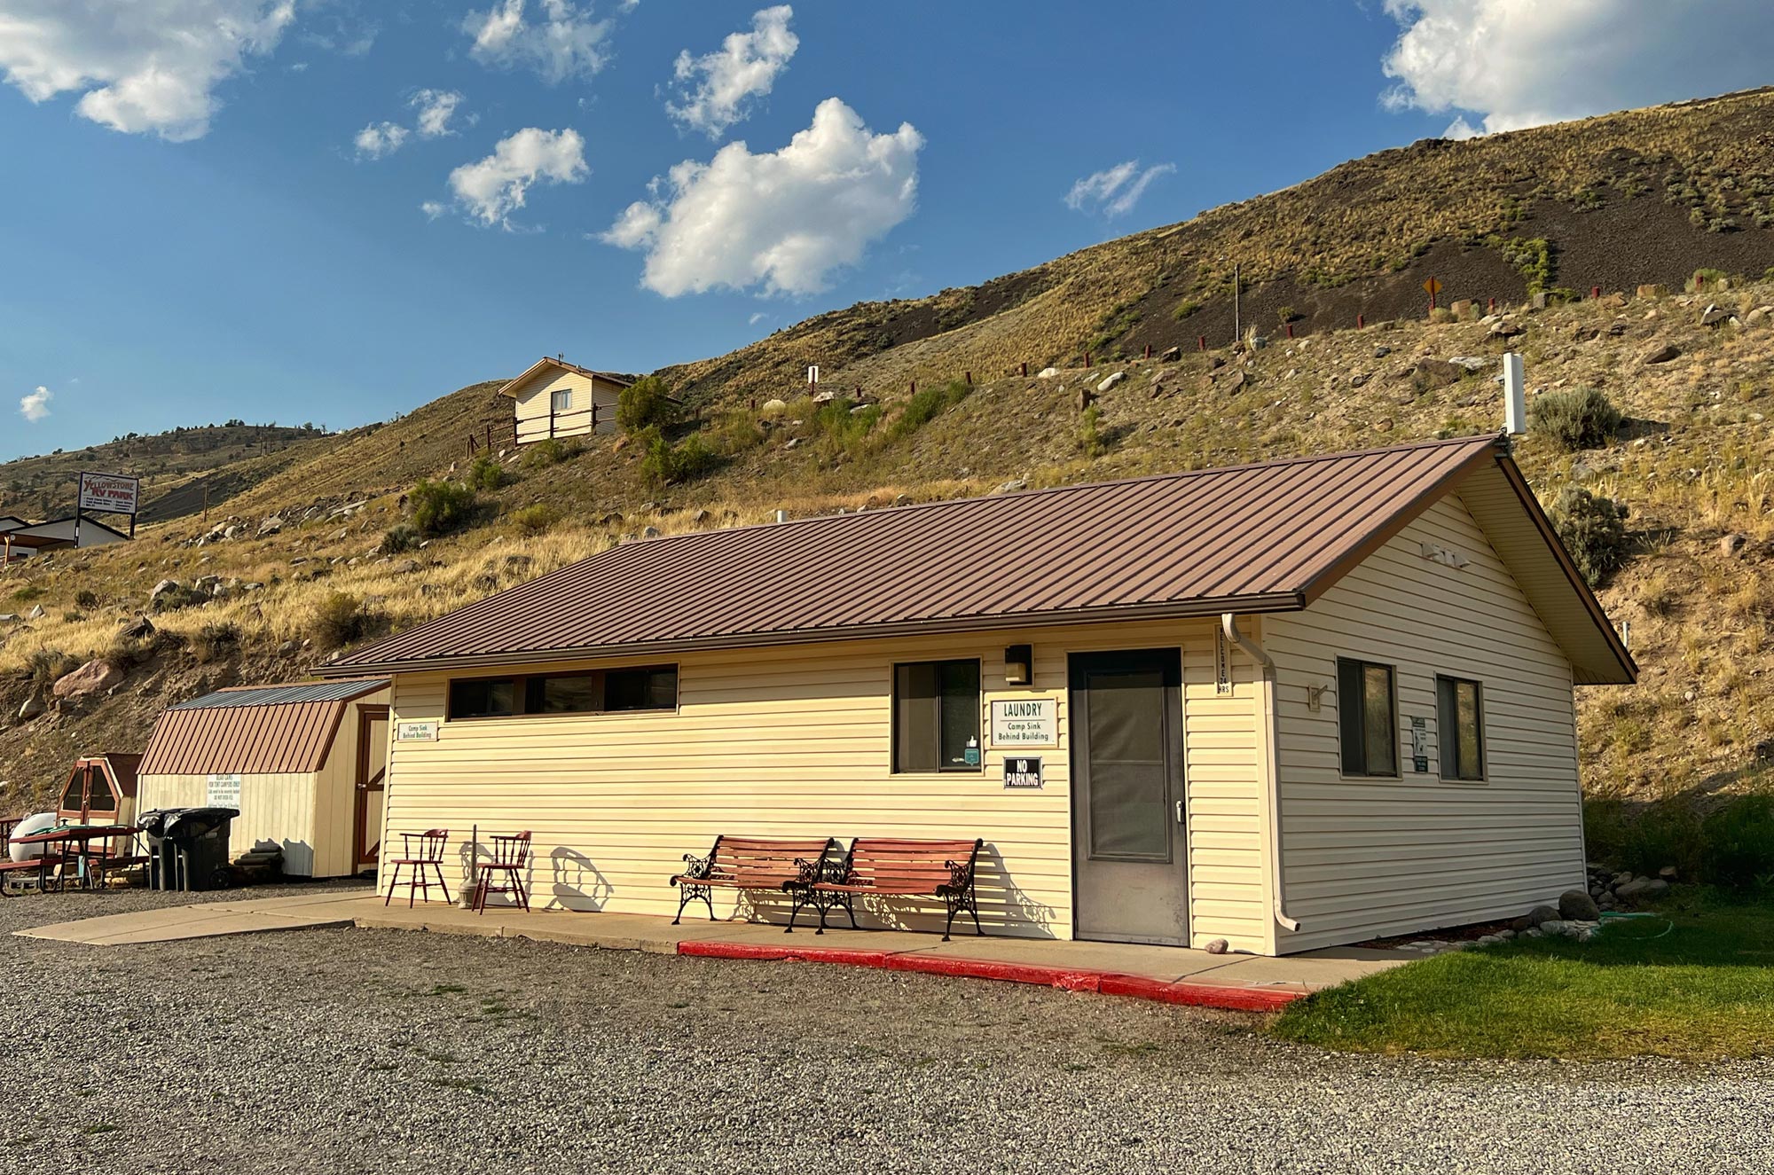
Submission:
<svg viewBox="0 0 1774 1175">
<path fill-rule="evenodd" d="M 229 856 L 266 843 L 284 873 L 376 866 L 389 753 L 389 680 L 224 689 L 169 706 L 138 777 L 138 809 L 238 808 Z"/>
</svg>

